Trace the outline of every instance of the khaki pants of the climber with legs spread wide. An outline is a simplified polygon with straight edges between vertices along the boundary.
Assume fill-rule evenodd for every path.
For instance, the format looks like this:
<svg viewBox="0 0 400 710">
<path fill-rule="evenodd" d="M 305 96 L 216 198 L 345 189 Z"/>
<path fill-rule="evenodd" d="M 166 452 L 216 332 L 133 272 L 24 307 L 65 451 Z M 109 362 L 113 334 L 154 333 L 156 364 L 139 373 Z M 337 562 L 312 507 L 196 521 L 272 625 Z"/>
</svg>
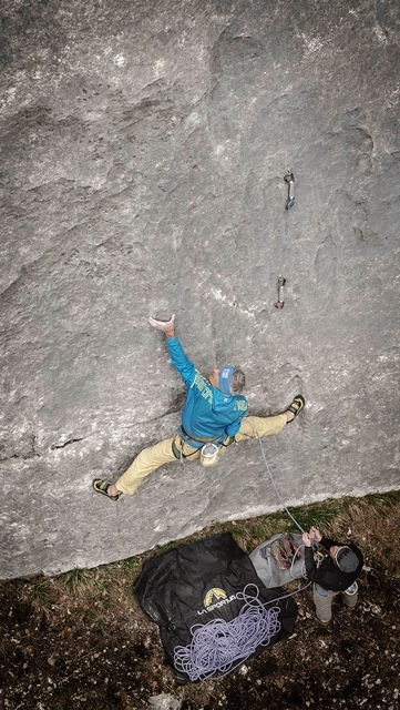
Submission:
<svg viewBox="0 0 400 710">
<path fill-rule="evenodd" d="M 245 417 L 235 436 L 235 442 L 244 442 L 248 438 L 256 439 L 258 436 L 271 436 L 274 434 L 279 434 L 286 424 L 286 414 L 278 414 L 275 417 Z M 225 452 L 228 443 L 229 438 L 225 439 L 225 446 L 224 444 L 220 446 L 219 454 Z M 194 460 L 199 458 L 202 447 L 194 448 L 193 446 L 188 446 L 188 444 L 186 444 L 178 434 L 175 434 L 154 446 L 148 446 L 136 456 L 133 464 L 115 481 L 116 488 L 122 490 L 122 493 L 126 493 L 132 496 L 148 474 L 153 473 L 153 470 L 160 468 L 160 466 L 163 466 L 164 464 L 177 462 L 174 449 L 175 452 L 182 450 L 183 457 L 187 460 Z"/>
</svg>

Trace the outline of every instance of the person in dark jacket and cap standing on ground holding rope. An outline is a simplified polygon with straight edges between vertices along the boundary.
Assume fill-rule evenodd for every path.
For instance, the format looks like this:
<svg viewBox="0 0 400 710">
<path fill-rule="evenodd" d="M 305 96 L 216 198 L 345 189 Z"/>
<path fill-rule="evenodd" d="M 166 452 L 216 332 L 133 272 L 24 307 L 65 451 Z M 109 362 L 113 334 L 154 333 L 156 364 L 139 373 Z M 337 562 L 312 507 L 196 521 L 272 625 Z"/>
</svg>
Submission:
<svg viewBox="0 0 400 710">
<path fill-rule="evenodd" d="M 317 619 L 321 623 L 329 623 L 332 617 L 332 600 L 337 595 L 341 595 L 343 604 L 349 608 L 355 607 L 358 601 L 356 579 L 363 566 L 362 552 L 356 545 L 343 545 L 322 537 L 315 527 L 302 534 L 302 541 L 306 547 L 307 579 L 314 582 Z M 329 551 L 320 565 L 315 559 L 312 542 L 316 542 L 317 547 L 320 542 Z"/>
</svg>

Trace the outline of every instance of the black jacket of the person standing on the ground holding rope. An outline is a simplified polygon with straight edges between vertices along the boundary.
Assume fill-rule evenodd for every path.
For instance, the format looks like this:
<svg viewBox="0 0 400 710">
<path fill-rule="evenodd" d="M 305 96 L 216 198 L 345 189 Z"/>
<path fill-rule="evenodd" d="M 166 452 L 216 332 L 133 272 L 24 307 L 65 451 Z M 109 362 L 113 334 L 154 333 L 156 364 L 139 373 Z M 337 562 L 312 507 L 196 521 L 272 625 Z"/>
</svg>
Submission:
<svg viewBox="0 0 400 710">
<path fill-rule="evenodd" d="M 335 545 L 342 547 L 343 542 L 335 542 L 335 540 L 330 540 L 327 537 L 322 537 L 320 544 L 329 550 Z M 306 561 L 306 572 L 309 581 L 314 581 L 316 585 L 322 587 L 322 589 L 328 589 L 330 591 L 345 591 L 353 581 L 356 581 L 359 576 L 362 566 L 363 566 L 363 557 L 361 550 L 356 547 L 356 545 L 347 545 L 352 552 L 358 557 L 359 564 L 357 569 L 353 572 L 343 572 L 337 564 L 332 560 L 331 557 L 325 557 L 319 567 L 314 559 L 314 552 L 311 547 L 306 547 L 305 552 L 305 561 Z"/>
</svg>

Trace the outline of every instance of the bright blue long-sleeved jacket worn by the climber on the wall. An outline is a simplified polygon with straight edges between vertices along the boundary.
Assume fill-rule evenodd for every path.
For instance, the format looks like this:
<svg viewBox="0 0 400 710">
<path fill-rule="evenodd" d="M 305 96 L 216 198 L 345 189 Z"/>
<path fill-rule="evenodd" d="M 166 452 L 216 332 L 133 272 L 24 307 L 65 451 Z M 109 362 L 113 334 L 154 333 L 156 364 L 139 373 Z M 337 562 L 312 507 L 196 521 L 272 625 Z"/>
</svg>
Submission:
<svg viewBox="0 0 400 710">
<path fill-rule="evenodd" d="M 181 436 L 197 448 L 199 448 L 197 437 L 217 439 L 215 443 L 218 444 L 227 436 L 235 436 L 247 412 L 246 397 L 224 395 L 213 387 L 186 357 L 177 337 L 167 338 L 166 344 L 171 362 L 187 387 L 182 409 L 183 430 L 178 429 Z"/>
</svg>

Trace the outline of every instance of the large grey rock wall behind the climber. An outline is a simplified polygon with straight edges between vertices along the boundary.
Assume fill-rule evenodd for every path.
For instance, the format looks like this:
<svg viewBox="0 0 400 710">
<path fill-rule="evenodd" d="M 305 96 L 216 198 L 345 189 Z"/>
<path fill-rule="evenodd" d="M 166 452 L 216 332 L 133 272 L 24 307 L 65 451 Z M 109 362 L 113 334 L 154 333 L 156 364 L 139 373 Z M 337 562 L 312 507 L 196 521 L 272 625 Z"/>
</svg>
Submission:
<svg viewBox="0 0 400 710">
<path fill-rule="evenodd" d="M 256 442 L 92 491 L 180 420 L 150 314 L 177 314 L 201 371 L 240 364 L 254 414 L 304 393 L 265 443 L 288 504 L 398 488 L 398 1 L 1 16 L 1 577 L 279 506 Z"/>
</svg>

